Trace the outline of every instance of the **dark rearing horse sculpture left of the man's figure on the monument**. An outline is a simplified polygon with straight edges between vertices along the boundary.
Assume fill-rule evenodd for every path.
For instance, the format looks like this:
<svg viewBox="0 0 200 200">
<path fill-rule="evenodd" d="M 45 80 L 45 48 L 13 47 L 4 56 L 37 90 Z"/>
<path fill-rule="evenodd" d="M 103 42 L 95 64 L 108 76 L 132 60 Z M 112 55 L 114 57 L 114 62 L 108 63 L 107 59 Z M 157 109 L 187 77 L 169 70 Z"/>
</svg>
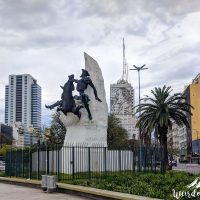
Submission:
<svg viewBox="0 0 200 200">
<path fill-rule="evenodd" d="M 74 90 L 74 81 L 74 75 L 72 74 L 69 76 L 69 80 L 65 83 L 64 87 L 61 87 L 63 89 L 61 100 L 49 106 L 45 105 L 45 107 L 53 109 L 58 106 L 57 111 L 62 111 L 65 115 L 67 115 L 68 112 L 72 112 L 80 119 L 81 112 L 79 110 L 83 106 L 76 106 L 75 104 L 74 97 L 72 95 L 72 91 Z"/>
</svg>

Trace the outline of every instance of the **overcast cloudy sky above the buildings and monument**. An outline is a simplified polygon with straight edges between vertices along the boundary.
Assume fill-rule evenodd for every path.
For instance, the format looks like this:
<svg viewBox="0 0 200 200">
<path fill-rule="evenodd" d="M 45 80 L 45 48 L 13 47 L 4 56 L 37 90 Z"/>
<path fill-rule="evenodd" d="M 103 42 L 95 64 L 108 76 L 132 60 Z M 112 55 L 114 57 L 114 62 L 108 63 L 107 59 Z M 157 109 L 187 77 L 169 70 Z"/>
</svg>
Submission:
<svg viewBox="0 0 200 200">
<path fill-rule="evenodd" d="M 181 92 L 200 72 L 199 0 L 0 0 L 0 121 L 9 74 L 31 74 L 44 104 L 60 98 L 69 74 L 84 68 L 83 52 L 99 63 L 109 87 L 122 75 L 122 38 L 129 67 L 146 64 L 142 95 L 155 86 Z M 129 81 L 138 97 L 138 79 Z"/>
</svg>

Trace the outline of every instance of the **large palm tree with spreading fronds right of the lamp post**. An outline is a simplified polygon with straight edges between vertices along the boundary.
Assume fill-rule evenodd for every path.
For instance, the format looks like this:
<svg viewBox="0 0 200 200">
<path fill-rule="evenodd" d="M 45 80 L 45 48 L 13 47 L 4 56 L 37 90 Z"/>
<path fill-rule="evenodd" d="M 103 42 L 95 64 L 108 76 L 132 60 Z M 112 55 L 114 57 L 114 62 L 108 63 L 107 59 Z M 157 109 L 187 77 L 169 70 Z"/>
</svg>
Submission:
<svg viewBox="0 0 200 200">
<path fill-rule="evenodd" d="M 153 97 L 146 96 L 142 99 L 144 103 L 136 106 L 136 113 L 141 113 L 136 127 L 148 134 L 155 131 L 163 147 L 163 171 L 166 171 L 168 166 L 168 130 L 172 129 L 173 122 L 178 126 L 189 127 L 186 114 L 192 115 L 192 106 L 186 102 L 186 98 L 180 93 L 170 95 L 171 92 L 171 87 L 156 87 L 155 90 L 151 90 Z"/>
</svg>

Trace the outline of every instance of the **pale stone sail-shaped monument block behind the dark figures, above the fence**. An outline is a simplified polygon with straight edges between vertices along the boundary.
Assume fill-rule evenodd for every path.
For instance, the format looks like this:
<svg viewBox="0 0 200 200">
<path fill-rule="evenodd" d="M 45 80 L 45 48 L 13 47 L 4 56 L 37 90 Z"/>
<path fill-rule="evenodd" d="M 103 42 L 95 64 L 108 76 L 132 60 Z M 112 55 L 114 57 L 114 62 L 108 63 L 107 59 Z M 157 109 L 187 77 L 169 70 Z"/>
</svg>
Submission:
<svg viewBox="0 0 200 200">
<path fill-rule="evenodd" d="M 80 121 L 77 120 L 77 117 L 72 113 L 68 113 L 67 116 L 61 113 L 61 120 L 67 129 L 64 145 L 84 145 L 90 147 L 97 145 L 107 146 L 108 106 L 106 102 L 104 79 L 97 61 L 87 53 L 84 53 L 84 58 L 85 69 L 89 72 L 90 78 L 96 87 L 98 97 L 102 102 L 95 99 L 94 91 L 88 85 L 85 94 L 90 98 L 89 106 L 93 119 L 88 119 L 85 108 L 80 110 Z"/>
</svg>

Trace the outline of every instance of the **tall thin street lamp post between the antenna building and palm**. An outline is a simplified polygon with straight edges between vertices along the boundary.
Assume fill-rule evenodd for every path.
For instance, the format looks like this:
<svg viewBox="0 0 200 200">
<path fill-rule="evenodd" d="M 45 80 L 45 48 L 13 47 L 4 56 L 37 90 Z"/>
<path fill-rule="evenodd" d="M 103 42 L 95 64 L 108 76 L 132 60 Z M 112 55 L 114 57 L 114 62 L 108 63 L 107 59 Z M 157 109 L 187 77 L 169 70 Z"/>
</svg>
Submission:
<svg viewBox="0 0 200 200">
<path fill-rule="evenodd" d="M 145 70 L 145 69 L 148 69 L 147 67 L 145 67 L 146 65 L 142 65 L 141 67 L 137 67 L 135 65 L 133 65 L 133 69 L 130 69 L 130 70 L 136 70 L 138 72 L 138 85 L 139 85 L 139 107 L 140 107 L 140 71 L 141 70 Z M 141 115 L 141 111 L 139 111 L 139 118 L 140 118 L 140 115 Z M 141 129 L 139 127 L 139 139 L 140 139 L 140 168 L 142 167 L 142 136 L 141 136 Z"/>
</svg>

